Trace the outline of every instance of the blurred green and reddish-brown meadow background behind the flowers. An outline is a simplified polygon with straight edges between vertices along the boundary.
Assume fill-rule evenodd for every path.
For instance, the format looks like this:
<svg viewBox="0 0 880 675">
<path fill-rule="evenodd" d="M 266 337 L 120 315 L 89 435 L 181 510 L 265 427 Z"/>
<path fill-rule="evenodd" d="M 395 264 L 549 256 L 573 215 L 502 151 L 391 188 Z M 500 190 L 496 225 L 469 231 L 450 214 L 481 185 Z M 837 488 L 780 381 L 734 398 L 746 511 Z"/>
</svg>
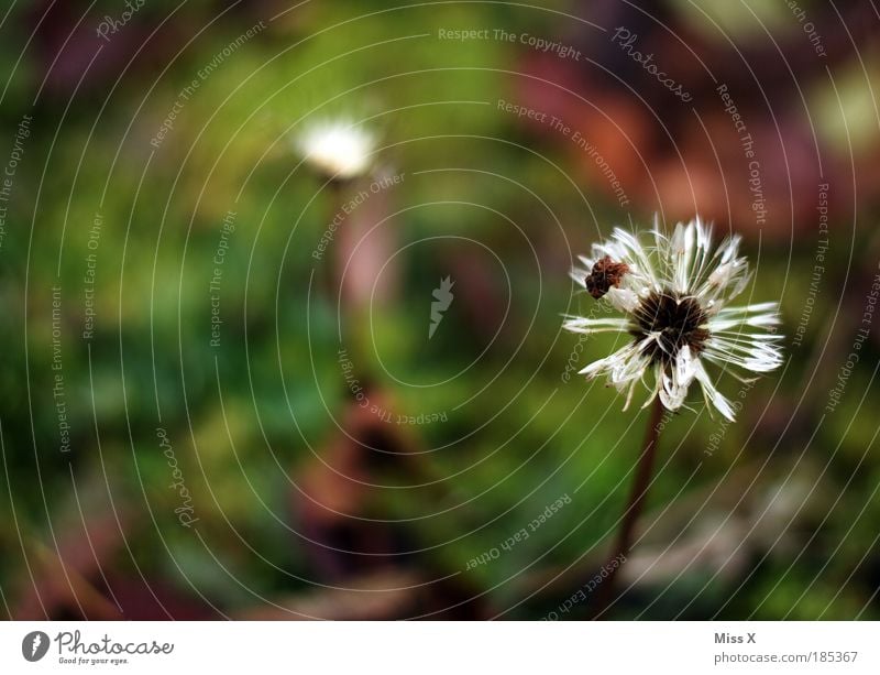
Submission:
<svg viewBox="0 0 880 675">
<path fill-rule="evenodd" d="M 0 10 L 0 613 L 588 617 L 647 414 L 568 271 L 698 213 L 787 360 L 667 418 L 610 616 L 880 619 L 871 3 L 87 4 Z"/>
</svg>

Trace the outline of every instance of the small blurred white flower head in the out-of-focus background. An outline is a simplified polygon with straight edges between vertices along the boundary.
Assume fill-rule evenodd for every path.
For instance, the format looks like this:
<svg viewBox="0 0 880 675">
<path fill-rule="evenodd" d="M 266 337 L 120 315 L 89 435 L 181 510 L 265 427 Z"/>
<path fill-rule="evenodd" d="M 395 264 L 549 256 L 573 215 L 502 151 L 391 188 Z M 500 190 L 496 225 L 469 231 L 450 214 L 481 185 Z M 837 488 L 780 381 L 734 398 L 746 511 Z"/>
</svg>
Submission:
<svg viewBox="0 0 880 675">
<path fill-rule="evenodd" d="M 370 170 L 376 139 L 370 131 L 340 120 L 309 127 L 297 137 L 296 145 L 316 171 L 348 181 Z"/>
</svg>

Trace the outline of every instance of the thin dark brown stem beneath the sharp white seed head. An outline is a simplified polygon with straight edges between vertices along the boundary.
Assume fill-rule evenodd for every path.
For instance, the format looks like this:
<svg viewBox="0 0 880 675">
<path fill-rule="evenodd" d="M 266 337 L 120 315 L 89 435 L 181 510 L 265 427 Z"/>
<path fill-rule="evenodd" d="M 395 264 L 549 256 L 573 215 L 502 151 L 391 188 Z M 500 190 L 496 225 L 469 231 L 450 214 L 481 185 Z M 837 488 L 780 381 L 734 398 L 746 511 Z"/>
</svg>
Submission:
<svg viewBox="0 0 880 675">
<path fill-rule="evenodd" d="M 663 404 L 660 396 L 657 396 L 651 404 L 651 416 L 648 420 L 648 428 L 645 433 L 645 445 L 642 446 L 639 464 L 636 467 L 636 478 L 632 481 L 632 491 L 629 494 L 626 511 L 624 512 L 623 523 L 617 533 L 617 543 L 614 553 L 605 564 L 608 576 L 600 585 L 596 609 L 593 613 L 594 619 L 608 609 L 614 599 L 614 581 L 617 574 L 626 562 L 629 549 L 632 546 L 632 532 L 636 521 L 645 507 L 645 499 L 648 496 L 648 487 L 653 473 L 654 457 L 657 457 L 657 445 L 660 440 L 660 422 L 663 417 Z"/>
</svg>

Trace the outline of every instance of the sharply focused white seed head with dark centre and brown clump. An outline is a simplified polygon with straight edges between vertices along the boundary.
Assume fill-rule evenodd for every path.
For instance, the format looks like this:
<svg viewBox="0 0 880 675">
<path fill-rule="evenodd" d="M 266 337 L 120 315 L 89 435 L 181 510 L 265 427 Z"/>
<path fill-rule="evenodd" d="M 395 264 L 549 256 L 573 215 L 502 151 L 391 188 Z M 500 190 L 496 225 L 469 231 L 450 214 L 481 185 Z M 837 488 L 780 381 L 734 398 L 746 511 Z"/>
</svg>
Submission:
<svg viewBox="0 0 880 675">
<path fill-rule="evenodd" d="M 706 403 L 733 421 L 734 409 L 706 364 L 762 373 L 782 363 L 782 336 L 773 328 L 780 323 L 777 303 L 728 306 L 750 279 L 739 241 L 730 237 L 713 251 L 711 228 L 697 217 L 675 226 L 671 237 L 654 224 L 644 237 L 617 228 L 610 240 L 593 244 L 591 257 L 580 257 L 584 266 L 571 275 L 624 316 L 568 316 L 564 327 L 582 334 L 626 333 L 632 339 L 581 373 L 606 375 L 626 394 L 624 410 L 639 382 L 650 392 L 646 406 L 660 396 L 674 411 L 696 381 Z"/>
</svg>

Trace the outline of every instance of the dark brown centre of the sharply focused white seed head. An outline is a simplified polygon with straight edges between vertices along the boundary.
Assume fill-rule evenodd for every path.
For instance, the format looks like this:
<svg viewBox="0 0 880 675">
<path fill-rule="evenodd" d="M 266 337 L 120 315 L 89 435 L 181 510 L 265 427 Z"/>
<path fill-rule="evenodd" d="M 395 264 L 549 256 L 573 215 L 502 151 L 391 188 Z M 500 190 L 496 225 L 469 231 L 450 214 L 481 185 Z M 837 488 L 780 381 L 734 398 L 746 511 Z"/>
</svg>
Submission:
<svg viewBox="0 0 880 675">
<path fill-rule="evenodd" d="M 673 361 L 685 345 L 694 355 L 705 349 L 710 334 L 702 326 L 708 317 L 695 297 L 652 292 L 639 303 L 632 316 L 635 325 L 629 333 L 637 341 L 649 334 L 657 336 L 645 351 L 654 362 Z"/>
</svg>

